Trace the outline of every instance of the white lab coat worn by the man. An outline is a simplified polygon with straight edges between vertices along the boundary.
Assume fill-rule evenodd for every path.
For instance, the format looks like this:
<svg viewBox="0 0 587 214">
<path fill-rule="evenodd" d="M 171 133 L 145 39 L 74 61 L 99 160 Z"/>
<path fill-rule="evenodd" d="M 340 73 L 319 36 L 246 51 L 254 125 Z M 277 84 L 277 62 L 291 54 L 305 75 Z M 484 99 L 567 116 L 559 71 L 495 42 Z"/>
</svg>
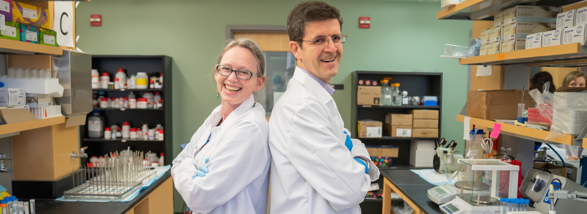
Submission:
<svg viewBox="0 0 587 214">
<path fill-rule="evenodd" d="M 269 118 L 271 213 L 360 213 L 371 181 L 370 172 L 345 147 L 344 124 L 332 96 L 296 68 Z M 369 154 L 359 140 L 353 151 Z"/>
</svg>

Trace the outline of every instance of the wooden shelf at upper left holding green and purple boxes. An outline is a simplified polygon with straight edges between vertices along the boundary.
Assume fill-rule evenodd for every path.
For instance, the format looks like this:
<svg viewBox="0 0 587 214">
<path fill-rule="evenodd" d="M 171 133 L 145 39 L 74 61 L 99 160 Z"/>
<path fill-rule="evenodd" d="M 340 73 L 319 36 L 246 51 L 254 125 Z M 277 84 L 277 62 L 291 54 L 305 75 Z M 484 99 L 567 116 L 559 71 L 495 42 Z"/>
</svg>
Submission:
<svg viewBox="0 0 587 214">
<path fill-rule="evenodd" d="M 10 39 L 0 39 L 0 53 L 15 53 L 23 55 L 63 55 L 61 47 L 40 45 Z"/>
</svg>

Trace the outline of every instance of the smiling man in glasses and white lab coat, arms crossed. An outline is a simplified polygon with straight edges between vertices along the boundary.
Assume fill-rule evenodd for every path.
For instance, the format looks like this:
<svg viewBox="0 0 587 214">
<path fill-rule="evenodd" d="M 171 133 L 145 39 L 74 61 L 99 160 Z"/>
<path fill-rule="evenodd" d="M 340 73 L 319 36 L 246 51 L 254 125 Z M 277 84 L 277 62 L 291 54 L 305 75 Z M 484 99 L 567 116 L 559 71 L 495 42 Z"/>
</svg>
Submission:
<svg viewBox="0 0 587 214">
<path fill-rule="evenodd" d="M 350 139 L 330 79 L 342 43 L 338 9 L 302 2 L 288 16 L 289 47 L 298 67 L 269 119 L 271 213 L 360 213 L 379 169 L 359 140 Z"/>
</svg>

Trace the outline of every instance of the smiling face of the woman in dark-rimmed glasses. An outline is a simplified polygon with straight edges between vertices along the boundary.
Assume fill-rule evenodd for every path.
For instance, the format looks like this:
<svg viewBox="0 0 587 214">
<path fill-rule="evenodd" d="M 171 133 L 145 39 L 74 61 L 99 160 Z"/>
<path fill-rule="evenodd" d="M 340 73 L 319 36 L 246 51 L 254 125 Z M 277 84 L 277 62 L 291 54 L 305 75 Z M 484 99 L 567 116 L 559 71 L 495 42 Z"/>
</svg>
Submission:
<svg viewBox="0 0 587 214">
<path fill-rule="evenodd" d="M 220 64 L 232 70 L 248 70 L 254 74 L 258 73 L 257 60 L 251 50 L 245 47 L 235 46 L 227 50 L 222 56 Z M 251 79 L 242 80 L 236 76 L 235 72 L 228 76 L 222 76 L 215 72 L 214 79 L 218 93 L 222 97 L 222 103 L 231 106 L 239 105 L 247 100 L 253 92 L 260 90 L 265 82 L 260 76 L 252 76 Z"/>
</svg>

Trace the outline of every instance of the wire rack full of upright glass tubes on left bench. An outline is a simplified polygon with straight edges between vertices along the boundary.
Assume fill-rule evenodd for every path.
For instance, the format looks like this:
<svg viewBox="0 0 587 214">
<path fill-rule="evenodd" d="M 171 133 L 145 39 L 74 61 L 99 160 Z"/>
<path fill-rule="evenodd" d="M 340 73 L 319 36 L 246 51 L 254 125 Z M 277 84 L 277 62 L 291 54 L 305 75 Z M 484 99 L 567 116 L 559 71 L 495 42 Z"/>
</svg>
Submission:
<svg viewBox="0 0 587 214">
<path fill-rule="evenodd" d="M 65 191 L 63 198 L 123 201 L 126 196 L 138 191 L 143 181 L 156 177 L 156 171 L 143 164 L 143 159 L 149 158 L 150 153 L 111 152 L 104 155 L 96 166 L 88 164 L 74 172 L 73 188 Z"/>
</svg>

